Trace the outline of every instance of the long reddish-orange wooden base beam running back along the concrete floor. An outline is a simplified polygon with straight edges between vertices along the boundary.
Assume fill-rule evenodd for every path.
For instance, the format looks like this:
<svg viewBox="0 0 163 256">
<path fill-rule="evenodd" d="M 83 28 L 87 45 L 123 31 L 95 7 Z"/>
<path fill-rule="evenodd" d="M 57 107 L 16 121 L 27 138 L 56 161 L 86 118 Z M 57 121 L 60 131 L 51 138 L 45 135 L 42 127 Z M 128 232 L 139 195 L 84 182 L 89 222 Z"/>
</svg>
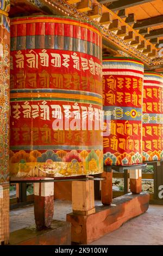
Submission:
<svg viewBox="0 0 163 256">
<path fill-rule="evenodd" d="M 96 207 L 96 213 L 89 216 L 67 214 L 71 222 L 71 241 L 89 244 L 107 233 L 119 228 L 124 222 L 148 210 L 149 194 L 125 194 L 112 200 L 109 206 Z"/>
</svg>

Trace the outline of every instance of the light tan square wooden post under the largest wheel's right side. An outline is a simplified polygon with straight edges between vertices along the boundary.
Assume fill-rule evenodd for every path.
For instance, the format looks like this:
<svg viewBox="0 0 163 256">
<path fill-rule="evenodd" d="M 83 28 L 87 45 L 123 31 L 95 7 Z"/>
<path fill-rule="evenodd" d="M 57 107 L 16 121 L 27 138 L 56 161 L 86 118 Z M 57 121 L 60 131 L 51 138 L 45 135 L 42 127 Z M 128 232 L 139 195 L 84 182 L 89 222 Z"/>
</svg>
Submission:
<svg viewBox="0 0 163 256">
<path fill-rule="evenodd" d="M 95 214 L 94 181 L 72 181 L 73 214 Z"/>
</svg>

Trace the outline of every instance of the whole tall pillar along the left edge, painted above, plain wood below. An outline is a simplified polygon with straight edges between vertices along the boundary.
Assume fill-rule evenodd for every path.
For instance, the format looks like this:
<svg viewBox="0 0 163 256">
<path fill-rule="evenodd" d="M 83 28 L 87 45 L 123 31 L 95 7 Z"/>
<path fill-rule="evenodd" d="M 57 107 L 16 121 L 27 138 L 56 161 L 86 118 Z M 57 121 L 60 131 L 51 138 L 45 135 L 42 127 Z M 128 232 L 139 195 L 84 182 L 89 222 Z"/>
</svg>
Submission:
<svg viewBox="0 0 163 256">
<path fill-rule="evenodd" d="M 9 2 L 0 0 L 0 245 L 9 242 Z"/>
</svg>

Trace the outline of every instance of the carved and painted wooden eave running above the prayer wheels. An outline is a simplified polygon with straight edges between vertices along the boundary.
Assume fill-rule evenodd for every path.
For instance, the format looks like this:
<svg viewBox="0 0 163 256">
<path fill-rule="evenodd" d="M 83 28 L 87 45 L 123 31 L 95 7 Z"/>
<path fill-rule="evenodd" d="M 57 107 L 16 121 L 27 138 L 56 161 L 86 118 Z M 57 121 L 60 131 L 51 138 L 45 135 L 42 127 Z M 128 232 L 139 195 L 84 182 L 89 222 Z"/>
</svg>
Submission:
<svg viewBox="0 0 163 256">
<path fill-rule="evenodd" d="M 82 0 L 82 2 L 83 1 L 86 0 Z M 162 66 L 163 59 L 159 58 L 158 56 L 158 51 L 160 49 L 156 48 L 156 45 L 146 39 L 145 35 L 139 34 L 139 32 L 137 32 L 133 28 L 135 23 L 134 15 L 126 17 L 128 15 L 126 15 L 125 11 L 121 11 L 121 13 L 123 13 L 123 16 L 122 14 L 120 15 L 120 11 L 114 13 L 112 10 L 108 9 L 104 5 L 99 4 L 97 0 L 92 0 L 92 7 L 90 6 L 89 9 L 85 9 L 87 11 L 84 13 L 81 11 L 81 4 L 79 5 L 79 3 L 77 3 L 81 2 L 81 0 L 71 0 L 71 4 L 70 0 L 11 0 L 10 2 L 11 8 L 12 4 L 16 4 L 16 2 L 24 2 L 33 5 L 37 11 L 40 10 L 43 14 L 63 16 L 67 15 L 71 17 L 76 17 L 77 19 L 83 21 L 91 21 L 101 30 L 103 35 L 103 45 L 104 47 L 110 49 L 110 52 L 112 52 L 112 54 L 116 55 L 116 52 L 117 55 L 119 54 L 121 56 L 138 58 L 142 60 L 142 62 L 145 64 L 146 69 L 156 69 Z M 109 17 L 111 18 L 111 21 L 108 20 L 108 23 L 106 21 L 103 22 L 103 24 L 100 22 L 101 14 L 98 13 L 96 5 L 99 5 L 99 7 L 102 8 L 103 14 L 106 13 L 108 14 L 108 16 L 110 15 Z M 93 16 L 92 9 L 95 7 L 96 16 Z M 80 11 L 77 8 L 80 8 Z M 120 16 L 118 16 L 118 14 Z M 122 19 L 122 17 L 126 17 L 126 19 Z M 111 29 L 109 29 L 109 27 Z M 123 31 L 126 31 L 126 33 L 129 32 L 130 35 L 133 34 L 134 38 L 131 38 L 130 40 L 124 40 L 126 38 L 122 36 L 122 33 L 120 33 L 120 31 L 122 31 L 122 33 Z M 154 54 L 156 55 L 154 56 Z"/>
</svg>

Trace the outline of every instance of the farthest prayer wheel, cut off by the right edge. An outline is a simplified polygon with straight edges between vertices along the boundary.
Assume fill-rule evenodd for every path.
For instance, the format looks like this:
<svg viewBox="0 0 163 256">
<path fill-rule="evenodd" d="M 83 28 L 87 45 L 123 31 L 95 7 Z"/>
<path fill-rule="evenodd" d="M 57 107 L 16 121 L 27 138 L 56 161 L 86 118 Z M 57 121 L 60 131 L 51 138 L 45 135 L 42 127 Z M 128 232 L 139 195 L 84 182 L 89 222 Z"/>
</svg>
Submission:
<svg viewBox="0 0 163 256">
<path fill-rule="evenodd" d="M 145 72 L 143 87 L 143 161 L 163 159 L 163 76 Z"/>
</svg>

